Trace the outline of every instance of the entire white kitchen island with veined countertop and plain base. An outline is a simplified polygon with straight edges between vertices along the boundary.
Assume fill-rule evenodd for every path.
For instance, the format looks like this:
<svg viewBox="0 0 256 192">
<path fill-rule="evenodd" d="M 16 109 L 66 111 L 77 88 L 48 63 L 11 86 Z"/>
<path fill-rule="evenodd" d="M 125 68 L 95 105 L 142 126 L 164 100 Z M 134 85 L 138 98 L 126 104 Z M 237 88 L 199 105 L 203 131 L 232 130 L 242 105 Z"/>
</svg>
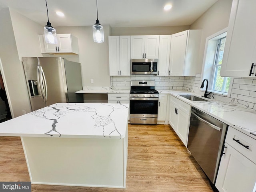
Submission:
<svg viewBox="0 0 256 192">
<path fill-rule="evenodd" d="M 126 187 L 129 104 L 57 103 L 0 124 L 20 136 L 32 184 Z"/>
</svg>

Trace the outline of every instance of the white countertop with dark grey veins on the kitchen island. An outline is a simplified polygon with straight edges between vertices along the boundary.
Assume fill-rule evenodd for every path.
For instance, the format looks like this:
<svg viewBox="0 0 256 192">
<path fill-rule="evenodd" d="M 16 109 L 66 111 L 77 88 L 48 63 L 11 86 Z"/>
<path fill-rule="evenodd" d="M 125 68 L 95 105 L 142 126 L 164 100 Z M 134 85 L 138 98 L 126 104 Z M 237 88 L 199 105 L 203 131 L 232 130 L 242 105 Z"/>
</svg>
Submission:
<svg viewBox="0 0 256 192">
<path fill-rule="evenodd" d="M 56 103 L 0 124 L 0 136 L 124 138 L 129 104 Z"/>
</svg>

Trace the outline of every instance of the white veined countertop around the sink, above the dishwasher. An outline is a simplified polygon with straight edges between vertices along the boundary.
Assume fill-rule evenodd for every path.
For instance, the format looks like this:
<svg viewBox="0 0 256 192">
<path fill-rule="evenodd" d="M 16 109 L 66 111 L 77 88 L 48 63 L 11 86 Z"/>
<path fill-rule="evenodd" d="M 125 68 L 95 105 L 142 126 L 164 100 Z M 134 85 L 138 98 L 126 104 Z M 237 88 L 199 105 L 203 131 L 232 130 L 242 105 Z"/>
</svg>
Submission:
<svg viewBox="0 0 256 192">
<path fill-rule="evenodd" d="M 180 96 L 193 94 L 201 97 L 200 95 L 191 92 L 170 92 L 170 94 L 256 139 L 256 111 L 215 99 L 208 99 L 208 102 L 199 102 L 190 101 Z"/>
</svg>

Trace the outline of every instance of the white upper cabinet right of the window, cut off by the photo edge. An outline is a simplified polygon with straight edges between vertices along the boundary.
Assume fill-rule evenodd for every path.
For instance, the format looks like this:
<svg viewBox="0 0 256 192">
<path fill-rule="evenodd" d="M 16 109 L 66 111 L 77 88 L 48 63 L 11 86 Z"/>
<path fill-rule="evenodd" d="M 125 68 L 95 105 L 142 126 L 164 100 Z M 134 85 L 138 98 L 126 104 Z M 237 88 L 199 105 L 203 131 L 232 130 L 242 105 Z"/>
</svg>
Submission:
<svg viewBox="0 0 256 192">
<path fill-rule="evenodd" d="M 255 0 L 233 0 L 220 76 L 256 76 Z"/>
</svg>

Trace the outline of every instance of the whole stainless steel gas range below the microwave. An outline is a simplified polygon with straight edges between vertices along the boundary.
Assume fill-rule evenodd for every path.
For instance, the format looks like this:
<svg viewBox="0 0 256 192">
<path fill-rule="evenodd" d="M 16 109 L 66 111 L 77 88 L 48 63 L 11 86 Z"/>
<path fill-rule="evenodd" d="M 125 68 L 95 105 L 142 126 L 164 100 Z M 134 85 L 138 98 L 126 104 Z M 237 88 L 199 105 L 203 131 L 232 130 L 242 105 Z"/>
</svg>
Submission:
<svg viewBox="0 0 256 192">
<path fill-rule="evenodd" d="M 131 81 L 131 124 L 156 124 L 158 95 L 154 81 Z"/>
</svg>

